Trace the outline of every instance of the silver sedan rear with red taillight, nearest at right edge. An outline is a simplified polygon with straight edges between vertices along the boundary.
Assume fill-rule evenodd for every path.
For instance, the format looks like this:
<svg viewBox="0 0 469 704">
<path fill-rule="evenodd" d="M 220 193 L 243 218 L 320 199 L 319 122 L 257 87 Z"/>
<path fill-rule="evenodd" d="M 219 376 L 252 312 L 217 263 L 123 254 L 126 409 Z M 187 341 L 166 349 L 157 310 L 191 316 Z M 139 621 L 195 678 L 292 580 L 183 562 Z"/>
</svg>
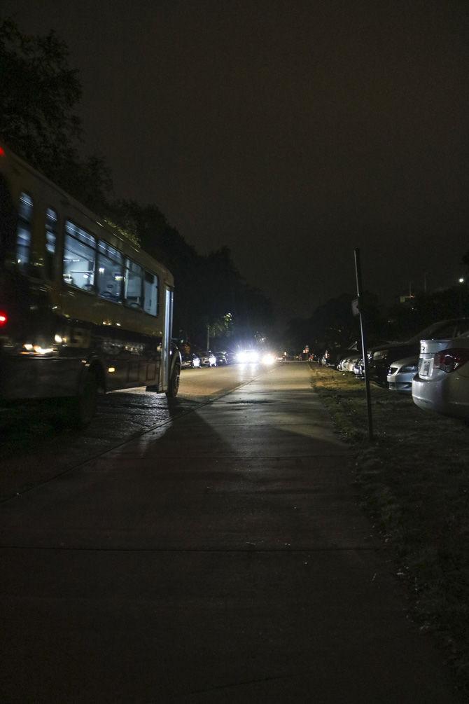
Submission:
<svg viewBox="0 0 469 704">
<path fill-rule="evenodd" d="M 422 339 L 413 403 L 469 420 L 469 332 L 453 339 Z"/>
</svg>

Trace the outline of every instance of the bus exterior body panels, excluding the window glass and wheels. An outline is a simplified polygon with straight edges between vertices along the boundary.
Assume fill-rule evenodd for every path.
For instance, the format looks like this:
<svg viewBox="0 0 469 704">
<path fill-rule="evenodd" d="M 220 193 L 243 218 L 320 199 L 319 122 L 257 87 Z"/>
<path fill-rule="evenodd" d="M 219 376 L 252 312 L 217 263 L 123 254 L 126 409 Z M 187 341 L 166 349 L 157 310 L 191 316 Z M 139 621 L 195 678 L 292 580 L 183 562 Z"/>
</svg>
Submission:
<svg viewBox="0 0 469 704">
<path fill-rule="evenodd" d="M 165 391 L 179 356 L 179 351 L 170 351 L 174 281 L 167 268 L 104 227 L 96 215 L 7 149 L 1 149 L 0 177 L 4 211 L 0 225 L 0 311 L 8 313 L 6 325 L 0 327 L 0 397 L 75 396 L 80 392 L 84 370 L 91 366 L 105 391 L 143 385 Z M 20 221 L 19 199 L 23 194 L 32 201 L 32 218 L 29 261 L 26 267 L 21 263 L 22 269 L 16 250 L 13 257 L 11 251 L 17 246 L 13 228 L 16 231 Z M 15 208 L 14 218 L 10 217 L 10 202 Z M 48 208 L 56 213 L 52 267 L 44 225 Z M 64 281 L 66 222 L 82 228 L 96 243 L 92 291 Z M 134 304 L 138 309 L 126 305 L 127 298 L 122 300 L 124 282 L 117 284 L 120 301 L 98 295 L 101 242 L 114 248 L 122 262 L 135 263 L 142 272 L 137 279 L 141 297 Z M 124 275 L 129 271 L 124 268 Z M 157 291 L 159 298 L 153 312 L 143 310 L 147 272 L 153 287 L 150 295 L 154 300 Z M 125 281 L 125 276 L 117 279 Z"/>
</svg>

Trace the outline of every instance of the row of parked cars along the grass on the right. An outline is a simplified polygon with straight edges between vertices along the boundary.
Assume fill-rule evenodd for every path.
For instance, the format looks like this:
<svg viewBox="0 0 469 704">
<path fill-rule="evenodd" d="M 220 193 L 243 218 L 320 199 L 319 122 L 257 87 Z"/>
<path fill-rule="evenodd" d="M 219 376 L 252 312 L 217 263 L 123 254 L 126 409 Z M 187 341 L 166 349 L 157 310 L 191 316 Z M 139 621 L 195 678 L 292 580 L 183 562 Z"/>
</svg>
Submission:
<svg viewBox="0 0 469 704">
<path fill-rule="evenodd" d="M 329 351 L 322 363 L 364 375 L 359 344 Z M 368 351 L 372 381 L 412 394 L 419 408 L 469 420 L 469 318 L 440 320 L 405 341 L 385 342 Z"/>
</svg>

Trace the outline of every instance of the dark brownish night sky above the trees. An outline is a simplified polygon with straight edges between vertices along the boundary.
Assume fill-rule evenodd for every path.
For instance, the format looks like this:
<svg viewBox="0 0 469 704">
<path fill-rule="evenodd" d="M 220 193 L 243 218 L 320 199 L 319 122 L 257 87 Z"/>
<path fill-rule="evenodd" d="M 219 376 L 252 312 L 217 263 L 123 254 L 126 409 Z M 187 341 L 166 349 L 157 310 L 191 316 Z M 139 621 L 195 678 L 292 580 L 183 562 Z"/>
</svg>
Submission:
<svg viewBox="0 0 469 704">
<path fill-rule="evenodd" d="M 469 4 L 15 0 L 83 84 L 86 151 L 281 315 L 453 284 L 469 249 Z"/>
</svg>

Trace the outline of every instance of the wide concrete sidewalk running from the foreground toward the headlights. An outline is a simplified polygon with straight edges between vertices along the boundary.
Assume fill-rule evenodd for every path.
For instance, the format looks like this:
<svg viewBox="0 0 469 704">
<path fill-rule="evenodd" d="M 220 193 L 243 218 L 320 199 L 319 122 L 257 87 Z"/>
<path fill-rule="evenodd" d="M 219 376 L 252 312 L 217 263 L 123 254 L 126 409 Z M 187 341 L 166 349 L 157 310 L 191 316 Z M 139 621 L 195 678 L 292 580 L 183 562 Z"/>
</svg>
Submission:
<svg viewBox="0 0 469 704">
<path fill-rule="evenodd" d="M 458 702 L 307 365 L 2 506 L 2 702 Z"/>
</svg>

